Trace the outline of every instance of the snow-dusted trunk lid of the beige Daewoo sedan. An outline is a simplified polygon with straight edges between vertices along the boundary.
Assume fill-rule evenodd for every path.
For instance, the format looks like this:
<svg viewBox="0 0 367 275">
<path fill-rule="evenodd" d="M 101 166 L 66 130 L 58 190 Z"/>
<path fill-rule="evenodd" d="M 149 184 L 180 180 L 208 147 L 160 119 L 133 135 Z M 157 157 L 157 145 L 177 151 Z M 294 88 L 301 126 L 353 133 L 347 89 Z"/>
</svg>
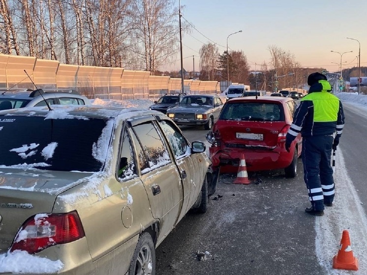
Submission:
<svg viewBox="0 0 367 275">
<path fill-rule="evenodd" d="M 22 224 L 35 214 L 52 213 L 56 197 L 92 173 L 0 169 L 0 254 Z"/>
</svg>

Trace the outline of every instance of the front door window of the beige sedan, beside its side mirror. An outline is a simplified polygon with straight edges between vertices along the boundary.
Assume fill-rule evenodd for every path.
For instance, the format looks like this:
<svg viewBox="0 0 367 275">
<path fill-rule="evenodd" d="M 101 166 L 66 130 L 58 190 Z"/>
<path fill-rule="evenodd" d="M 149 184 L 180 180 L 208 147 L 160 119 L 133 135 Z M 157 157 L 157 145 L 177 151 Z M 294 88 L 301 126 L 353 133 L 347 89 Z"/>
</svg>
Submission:
<svg viewBox="0 0 367 275">
<path fill-rule="evenodd" d="M 185 155 L 189 146 L 179 129 L 170 121 L 160 121 L 159 125 L 175 154 L 175 158 L 179 159 Z"/>
</svg>

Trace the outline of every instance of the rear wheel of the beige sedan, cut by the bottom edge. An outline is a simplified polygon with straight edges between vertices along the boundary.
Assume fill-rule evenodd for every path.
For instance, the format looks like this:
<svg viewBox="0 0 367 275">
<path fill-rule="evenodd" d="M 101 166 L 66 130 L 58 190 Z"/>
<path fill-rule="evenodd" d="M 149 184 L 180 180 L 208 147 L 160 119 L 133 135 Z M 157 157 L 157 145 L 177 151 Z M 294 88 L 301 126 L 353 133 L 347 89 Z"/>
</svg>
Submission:
<svg viewBox="0 0 367 275">
<path fill-rule="evenodd" d="M 128 275 L 155 275 L 155 248 L 151 234 L 143 233 L 139 237 Z"/>
</svg>

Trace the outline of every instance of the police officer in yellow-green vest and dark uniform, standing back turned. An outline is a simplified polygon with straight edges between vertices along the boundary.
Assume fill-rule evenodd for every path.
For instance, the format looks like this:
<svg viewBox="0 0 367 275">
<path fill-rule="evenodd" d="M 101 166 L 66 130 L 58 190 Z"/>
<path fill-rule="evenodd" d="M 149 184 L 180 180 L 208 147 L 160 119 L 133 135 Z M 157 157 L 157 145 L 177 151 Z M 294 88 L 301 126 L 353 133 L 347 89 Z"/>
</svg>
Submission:
<svg viewBox="0 0 367 275">
<path fill-rule="evenodd" d="M 311 73 L 307 84 L 310 88 L 296 109 L 285 149 L 289 152 L 291 143 L 301 132 L 304 179 L 311 202 L 306 213 L 323 215 L 324 205 L 332 206 L 335 196 L 330 162 L 332 149 L 336 150 L 343 131 L 344 112 L 341 101 L 330 93 L 332 88 L 325 75 Z"/>
</svg>

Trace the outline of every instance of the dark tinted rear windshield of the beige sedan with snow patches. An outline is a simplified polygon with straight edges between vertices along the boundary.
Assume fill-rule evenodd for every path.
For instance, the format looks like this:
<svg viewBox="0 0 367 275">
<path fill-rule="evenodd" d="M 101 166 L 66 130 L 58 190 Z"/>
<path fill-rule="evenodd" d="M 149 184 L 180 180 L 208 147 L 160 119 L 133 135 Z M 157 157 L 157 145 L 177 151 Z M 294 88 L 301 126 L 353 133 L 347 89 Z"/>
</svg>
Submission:
<svg viewBox="0 0 367 275">
<path fill-rule="evenodd" d="M 102 119 L 0 116 L 0 165 L 98 172 L 104 165 L 98 150 L 105 127 Z M 104 139 L 108 142 L 107 134 Z"/>
</svg>

